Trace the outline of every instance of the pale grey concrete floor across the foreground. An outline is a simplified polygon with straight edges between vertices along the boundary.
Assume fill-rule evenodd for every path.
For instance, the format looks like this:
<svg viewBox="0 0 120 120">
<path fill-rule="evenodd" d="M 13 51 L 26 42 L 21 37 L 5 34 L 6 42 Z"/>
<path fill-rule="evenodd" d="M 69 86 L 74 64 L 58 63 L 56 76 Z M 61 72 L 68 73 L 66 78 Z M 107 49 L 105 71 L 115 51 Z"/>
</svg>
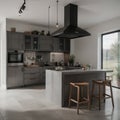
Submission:
<svg viewBox="0 0 120 120">
<path fill-rule="evenodd" d="M 102 103 L 102 110 L 81 107 L 61 108 L 46 100 L 44 87 L 27 87 L 0 91 L 0 120 L 120 120 L 120 89 L 114 89 L 115 108 L 111 100 Z"/>
</svg>

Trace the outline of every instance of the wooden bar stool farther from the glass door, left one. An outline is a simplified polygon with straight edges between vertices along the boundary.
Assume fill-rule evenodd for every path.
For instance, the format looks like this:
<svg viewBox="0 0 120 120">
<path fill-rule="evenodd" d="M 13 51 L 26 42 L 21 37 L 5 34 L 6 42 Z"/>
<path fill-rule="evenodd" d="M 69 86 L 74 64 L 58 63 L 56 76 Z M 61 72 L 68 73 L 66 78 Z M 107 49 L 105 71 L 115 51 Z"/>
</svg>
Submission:
<svg viewBox="0 0 120 120">
<path fill-rule="evenodd" d="M 77 100 L 72 98 L 73 88 L 77 89 Z M 87 90 L 87 97 L 83 97 L 84 90 Z M 79 82 L 79 83 L 70 83 L 70 93 L 69 93 L 69 107 L 71 102 L 77 104 L 77 114 L 79 114 L 79 104 L 88 103 L 88 108 L 90 108 L 90 95 L 89 95 L 89 83 L 88 82 Z"/>
</svg>

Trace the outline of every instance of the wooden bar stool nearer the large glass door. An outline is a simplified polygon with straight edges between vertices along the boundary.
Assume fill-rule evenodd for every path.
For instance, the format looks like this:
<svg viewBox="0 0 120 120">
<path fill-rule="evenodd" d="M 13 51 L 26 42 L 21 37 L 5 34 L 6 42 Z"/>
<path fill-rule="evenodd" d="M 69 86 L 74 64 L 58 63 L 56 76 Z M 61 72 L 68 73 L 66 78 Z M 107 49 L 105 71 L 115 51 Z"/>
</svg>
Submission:
<svg viewBox="0 0 120 120">
<path fill-rule="evenodd" d="M 98 95 L 94 94 L 94 92 L 96 91 L 95 90 L 95 85 L 98 86 Z M 109 86 L 109 88 L 110 88 L 110 95 L 106 94 L 106 91 L 105 91 L 105 87 L 106 86 Z M 103 87 L 103 94 L 101 93 L 102 92 L 101 87 Z M 99 101 L 99 110 L 101 109 L 101 99 L 102 98 L 104 99 L 104 102 L 105 102 L 105 99 L 111 98 L 111 100 L 112 100 L 112 106 L 114 108 L 114 100 L 113 100 L 113 92 L 112 92 L 111 80 L 93 80 L 92 81 L 91 103 L 92 103 L 93 97 L 98 98 L 98 101 Z"/>
</svg>

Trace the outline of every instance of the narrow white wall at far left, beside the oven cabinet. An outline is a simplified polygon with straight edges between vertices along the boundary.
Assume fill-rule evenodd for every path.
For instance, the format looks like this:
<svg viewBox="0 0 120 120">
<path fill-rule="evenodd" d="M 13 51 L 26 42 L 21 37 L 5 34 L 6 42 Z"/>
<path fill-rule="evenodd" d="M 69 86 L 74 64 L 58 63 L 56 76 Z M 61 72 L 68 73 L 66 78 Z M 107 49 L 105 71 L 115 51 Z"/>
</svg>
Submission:
<svg viewBox="0 0 120 120">
<path fill-rule="evenodd" d="M 0 18 L 0 87 L 6 89 L 6 64 L 7 64 L 7 47 L 6 47 L 6 18 Z"/>
</svg>

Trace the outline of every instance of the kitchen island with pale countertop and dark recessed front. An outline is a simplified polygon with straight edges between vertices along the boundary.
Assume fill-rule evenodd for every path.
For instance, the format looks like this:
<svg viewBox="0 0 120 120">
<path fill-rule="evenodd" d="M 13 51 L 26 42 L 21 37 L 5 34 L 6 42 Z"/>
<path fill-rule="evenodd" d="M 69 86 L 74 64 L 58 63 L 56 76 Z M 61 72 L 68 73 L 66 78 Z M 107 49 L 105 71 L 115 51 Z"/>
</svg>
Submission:
<svg viewBox="0 0 120 120">
<path fill-rule="evenodd" d="M 106 72 L 112 70 L 46 70 L 46 97 L 58 106 L 68 106 L 70 82 L 89 82 L 91 91 L 92 80 L 105 80 Z"/>
</svg>

